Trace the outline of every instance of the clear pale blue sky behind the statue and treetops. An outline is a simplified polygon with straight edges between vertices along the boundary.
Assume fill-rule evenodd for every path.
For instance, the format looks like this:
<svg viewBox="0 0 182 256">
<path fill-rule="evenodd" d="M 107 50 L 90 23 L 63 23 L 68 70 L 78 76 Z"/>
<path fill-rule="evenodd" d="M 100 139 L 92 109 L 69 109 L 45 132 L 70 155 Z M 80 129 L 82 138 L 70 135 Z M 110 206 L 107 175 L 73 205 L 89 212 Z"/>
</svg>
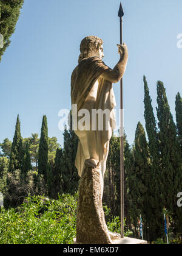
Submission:
<svg viewBox="0 0 182 256">
<path fill-rule="evenodd" d="M 130 144 L 138 121 L 145 126 L 143 75 L 155 111 L 157 80 L 166 87 L 175 119 L 175 95 L 181 89 L 181 0 L 123 0 L 123 40 L 129 48 L 124 75 L 124 127 Z M 47 115 L 49 137 L 57 137 L 61 108 L 71 108 L 70 76 L 77 65 L 79 44 L 87 35 L 104 40 L 104 62 L 113 68 L 119 60 L 118 0 L 25 0 L 15 34 L 0 63 L 0 141 L 13 139 L 16 116 L 22 137 L 41 130 Z M 1 49 L 0 49 L 1 51 Z M 120 83 L 113 85 L 120 107 Z"/>
</svg>

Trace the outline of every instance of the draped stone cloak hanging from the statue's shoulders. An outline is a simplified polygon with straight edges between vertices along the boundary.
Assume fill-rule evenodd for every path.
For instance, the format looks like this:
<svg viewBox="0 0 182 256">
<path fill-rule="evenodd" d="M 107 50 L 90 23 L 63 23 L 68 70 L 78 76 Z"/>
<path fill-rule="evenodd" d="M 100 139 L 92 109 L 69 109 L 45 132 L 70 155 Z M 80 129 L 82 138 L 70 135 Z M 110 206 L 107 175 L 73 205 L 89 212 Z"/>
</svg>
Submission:
<svg viewBox="0 0 182 256">
<path fill-rule="evenodd" d="M 72 105 L 77 105 L 78 112 L 81 110 L 84 102 L 87 101 L 89 92 L 95 85 L 96 81 L 98 81 L 98 90 L 96 94 L 95 109 L 101 109 L 103 111 L 106 109 L 110 110 L 109 129 L 106 130 L 106 127 L 104 127 L 103 130 L 93 131 L 93 136 L 96 138 L 95 151 L 98 155 L 99 162 L 106 162 L 107 160 L 109 140 L 112 137 L 113 130 L 115 129 L 115 113 L 113 108 L 116 106 L 116 101 L 113 93 L 112 82 L 109 82 L 101 76 L 106 69 L 108 69 L 109 72 L 112 71 L 112 69 L 106 66 L 99 57 L 89 57 L 83 59 L 78 66 L 76 66 L 72 73 L 71 80 Z M 75 165 L 80 177 L 84 168 L 85 160 L 84 151 L 81 146 L 81 142 L 79 141 Z"/>
</svg>

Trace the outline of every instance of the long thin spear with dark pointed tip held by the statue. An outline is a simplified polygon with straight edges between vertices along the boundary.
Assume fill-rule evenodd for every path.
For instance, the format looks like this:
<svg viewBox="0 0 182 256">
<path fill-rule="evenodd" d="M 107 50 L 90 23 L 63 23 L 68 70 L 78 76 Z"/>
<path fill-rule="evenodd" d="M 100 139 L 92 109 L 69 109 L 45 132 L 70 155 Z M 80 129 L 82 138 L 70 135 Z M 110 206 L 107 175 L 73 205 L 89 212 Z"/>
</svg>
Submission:
<svg viewBox="0 0 182 256">
<path fill-rule="evenodd" d="M 123 44 L 123 7 L 120 3 L 120 9 L 118 12 L 120 17 L 120 44 Z M 121 89 L 120 89 L 120 98 L 121 98 L 121 125 L 120 125 L 120 169 L 121 169 L 121 238 L 124 238 L 124 146 L 123 146 L 123 79 L 121 79 Z"/>
</svg>

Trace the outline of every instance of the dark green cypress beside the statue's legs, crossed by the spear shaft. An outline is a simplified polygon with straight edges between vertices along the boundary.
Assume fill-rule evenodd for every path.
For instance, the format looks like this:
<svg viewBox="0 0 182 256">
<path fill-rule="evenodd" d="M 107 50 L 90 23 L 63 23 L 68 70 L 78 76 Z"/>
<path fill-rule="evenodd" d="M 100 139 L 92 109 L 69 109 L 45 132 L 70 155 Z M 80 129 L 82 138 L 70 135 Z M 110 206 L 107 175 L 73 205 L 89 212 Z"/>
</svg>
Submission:
<svg viewBox="0 0 182 256">
<path fill-rule="evenodd" d="M 124 218 L 126 218 L 127 229 L 130 229 L 129 194 L 127 191 L 127 176 L 133 164 L 130 146 L 124 133 Z M 121 214 L 121 171 L 120 171 L 120 137 L 112 135 L 107 157 L 107 169 L 104 176 L 103 201 L 110 208 L 110 216 Z"/>
</svg>

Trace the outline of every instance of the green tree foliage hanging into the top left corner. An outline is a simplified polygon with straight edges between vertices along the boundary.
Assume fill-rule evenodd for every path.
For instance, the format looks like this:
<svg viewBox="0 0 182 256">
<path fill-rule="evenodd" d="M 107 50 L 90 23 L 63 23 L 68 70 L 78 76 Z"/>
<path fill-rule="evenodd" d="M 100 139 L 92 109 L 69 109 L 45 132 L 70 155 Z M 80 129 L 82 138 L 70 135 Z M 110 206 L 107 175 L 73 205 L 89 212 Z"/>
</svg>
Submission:
<svg viewBox="0 0 182 256">
<path fill-rule="evenodd" d="M 20 10 L 24 0 L 0 0 L 0 34 L 4 36 L 4 48 L 0 51 L 1 57 L 10 44 L 10 37 L 15 32 Z"/>
</svg>

